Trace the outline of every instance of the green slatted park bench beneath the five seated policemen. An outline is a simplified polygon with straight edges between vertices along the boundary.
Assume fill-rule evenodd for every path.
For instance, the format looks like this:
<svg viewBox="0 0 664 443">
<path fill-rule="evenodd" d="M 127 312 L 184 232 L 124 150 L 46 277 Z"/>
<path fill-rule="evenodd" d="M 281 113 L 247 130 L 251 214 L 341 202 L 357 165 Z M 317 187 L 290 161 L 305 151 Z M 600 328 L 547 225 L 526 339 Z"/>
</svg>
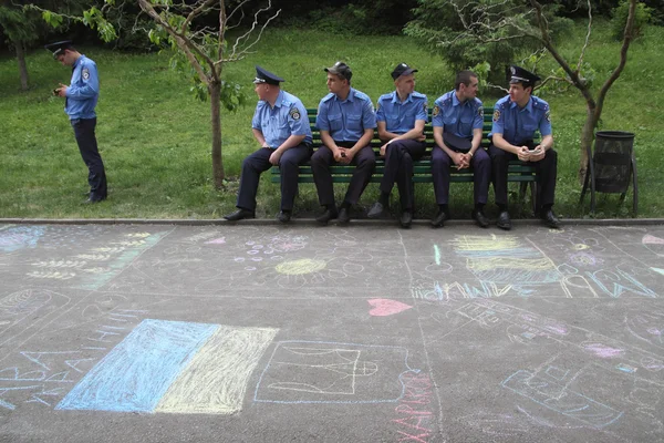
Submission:
<svg viewBox="0 0 664 443">
<path fill-rule="evenodd" d="M 424 126 L 424 133 L 426 135 L 426 144 L 427 144 L 427 155 L 424 156 L 423 159 L 413 162 L 413 183 L 433 183 L 432 177 L 432 161 L 430 150 L 435 146 L 434 142 L 434 130 L 432 126 L 432 111 L 429 107 L 429 123 Z M 313 133 L 313 148 L 318 150 L 322 146 L 321 142 L 321 133 L 318 127 L 315 127 L 315 115 L 317 109 L 308 109 L 307 116 L 309 117 L 309 124 L 311 125 L 311 131 Z M 494 109 L 486 107 L 484 109 L 484 128 L 483 128 L 483 141 L 481 146 L 488 148 L 489 138 L 488 134 L 491 131 L 491 121 L 494 117 Z M 378 138 L 377 130 L 374 132 L 374 138 L 371 141 L 371 147 L 376 152 L 376 155 L 383 145 L 383 142 Z M 381 178 L 383 177 L 383 171 L 385 167 L 385 162 L 380 158 L 376 161 L 376 168 L 371 177 L 371 183 L 381 183 Z M 457 169 L 455 167 L 450 167 L 450 183 L 473 183 L 473 169 L 464 168 Z M 334 165 L 331 167 L 332 171 L 332 181 L 334 183 L 350 183 L 351 175 L 355 166 L 353 165 Z M 281 175 L 279 171 L 279 166 L 273 166 L 271 169 L 271 181 L 272 183 L 280 183 Z M 532 210 L 535 212 L 536 207 L 536 193 L 537 193 L 537 184 L 535 176 L 535 167 L 529 166 L 522 162 L 513 161 L 509 163 L 508 169 L 508 182 L 518 182 L 519 185 L 519 202 L 523 202 L 526 198 L 526 193 L 528 190 L 528 185 L 530 184 L 530 202 L 532 205 Z M 311 165 L 308 163 L 300 166 L 300 176 L 298 178 L 299 183 L 313 183 L 313 173 L 311 171 Z"/>
</svg>

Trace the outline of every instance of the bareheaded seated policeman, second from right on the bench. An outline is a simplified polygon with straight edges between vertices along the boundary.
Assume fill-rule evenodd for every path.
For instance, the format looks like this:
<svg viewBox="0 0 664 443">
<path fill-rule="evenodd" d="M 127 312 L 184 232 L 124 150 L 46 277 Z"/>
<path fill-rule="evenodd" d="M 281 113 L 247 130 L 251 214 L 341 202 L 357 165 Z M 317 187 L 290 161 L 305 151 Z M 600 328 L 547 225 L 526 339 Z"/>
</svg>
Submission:
<svg viewBox="0 0 664 443">
<path fill-rule="evenodd" d="M 433 112 L 434 140 L 432 151 L 432 175 L 438 214 L 432 226 L 440 227 L 449 218 L 449 167 L 463 169 L 473 167 L 475 179 L 475 208 L 470 216 L 486 228 L 489 220 L 484 214 L 489 194 L 491 162 L 481 148 L 484 107 L 477 99 L 477 74 L 460 71 L 455 80 L 455 89 L 436 100 Z"/>
</svg>

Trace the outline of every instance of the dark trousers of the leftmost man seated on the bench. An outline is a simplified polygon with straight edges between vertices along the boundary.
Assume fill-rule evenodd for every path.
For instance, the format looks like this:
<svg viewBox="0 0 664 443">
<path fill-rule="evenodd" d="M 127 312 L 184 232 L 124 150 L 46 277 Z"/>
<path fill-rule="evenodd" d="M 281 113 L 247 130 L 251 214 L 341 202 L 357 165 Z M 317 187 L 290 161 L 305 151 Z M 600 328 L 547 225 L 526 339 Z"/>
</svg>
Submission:
<svg viewBox="0 0 664 443">
<path fill-rule="evenodd" d="M 237 207 L 242 209 L 256 209 L 256 194 L 260 174 L 272 167 L 270 155 L 274 150 L 261 147 L 253 154 L 247 156 L 242 162 L 242 175 L 240 176 L 240 189 L 238 192 Z M 292 210 L 295 195 L 298 195 L 298 175 L 300 165 L 311 157 L 311 146 L 300 143 L 281 155 L 279 168 L 281 169 L 281 210 Z"/>
</svg>

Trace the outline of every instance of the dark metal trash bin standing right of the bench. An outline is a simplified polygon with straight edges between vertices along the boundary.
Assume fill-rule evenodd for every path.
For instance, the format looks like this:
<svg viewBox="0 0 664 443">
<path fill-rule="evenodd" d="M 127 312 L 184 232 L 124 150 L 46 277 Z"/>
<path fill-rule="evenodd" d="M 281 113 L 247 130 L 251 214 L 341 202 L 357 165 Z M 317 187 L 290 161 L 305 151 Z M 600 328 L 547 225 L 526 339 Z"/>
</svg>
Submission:
<svg viewBox="0 0 664 443">
<path fill-rule="evenodd" d="M 621 194 L 620 203 L 622 204 L 630 187 L 630 182 L 633 182 L 633 209 L 634 217 L 636 217 L 639 189 L 636 186 L 636 162 L 634 161 L 634 134 L 623 131 L 598 131 L 595 133 L 594 153 L 591 156 L 589 152 L 588 158 L 589 167 L 579 203 L 583 202 L 589 179 L 591 213 L 594 213 L 595 208 L 595 190 Z"/>
</svg>

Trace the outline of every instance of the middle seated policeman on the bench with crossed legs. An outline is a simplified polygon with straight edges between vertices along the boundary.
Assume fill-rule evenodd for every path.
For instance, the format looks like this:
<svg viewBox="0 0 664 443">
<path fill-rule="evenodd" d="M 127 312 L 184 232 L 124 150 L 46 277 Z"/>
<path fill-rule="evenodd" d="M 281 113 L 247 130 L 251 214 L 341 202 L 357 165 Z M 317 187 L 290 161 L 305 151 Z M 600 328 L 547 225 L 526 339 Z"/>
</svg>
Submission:
<svg viewBox="0 0 664 443">
<path fill-rule="evenodd" d="M 396 182 L 401 199 L 400 223 L 407 228 L 413 223 L 414 189 L 413 161 L 419 159 L 426 150 L 424 125 L 428 116 L 426 95 L 415 91 L 416 69 L 400 63 L 392 71 L 396 90 L 381 95 L 376 110 L 381 156 L 385 157 L 385 171 L 381 179 L 381 197 L 369 210 L 369 217 L 383 214 L 390 203 L 390 194 Z"/>
</svg>

